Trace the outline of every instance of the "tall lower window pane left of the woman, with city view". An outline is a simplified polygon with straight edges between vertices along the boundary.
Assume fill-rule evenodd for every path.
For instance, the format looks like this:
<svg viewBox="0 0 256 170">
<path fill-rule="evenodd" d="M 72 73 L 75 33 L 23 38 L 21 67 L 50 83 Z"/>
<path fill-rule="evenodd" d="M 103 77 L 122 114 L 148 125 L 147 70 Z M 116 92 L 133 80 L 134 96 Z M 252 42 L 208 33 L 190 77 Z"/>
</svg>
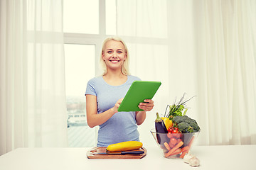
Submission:
<svg viewBox="0 0 256 170">
<path fill-rule="evenodd" d="M 65 44 L 64 47 L 68 145 L 93 147 L 96 131 L 86 123 L 85 89 L 87 81 L 95 77 L 95 45 Z"/>
</svg>

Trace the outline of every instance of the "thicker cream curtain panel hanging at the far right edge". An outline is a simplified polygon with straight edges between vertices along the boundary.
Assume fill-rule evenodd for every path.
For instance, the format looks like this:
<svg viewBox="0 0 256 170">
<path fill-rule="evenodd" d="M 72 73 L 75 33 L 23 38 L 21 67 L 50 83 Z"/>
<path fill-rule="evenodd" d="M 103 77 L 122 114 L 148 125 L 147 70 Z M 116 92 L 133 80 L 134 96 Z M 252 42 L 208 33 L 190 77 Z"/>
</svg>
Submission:
<svg viewBox="0 0 256 170">
<path fill-rule="evenodd" d="M 195 1 L 198 96 L 206 144 L 256 144 L 256 3 Z"/>
</svg>

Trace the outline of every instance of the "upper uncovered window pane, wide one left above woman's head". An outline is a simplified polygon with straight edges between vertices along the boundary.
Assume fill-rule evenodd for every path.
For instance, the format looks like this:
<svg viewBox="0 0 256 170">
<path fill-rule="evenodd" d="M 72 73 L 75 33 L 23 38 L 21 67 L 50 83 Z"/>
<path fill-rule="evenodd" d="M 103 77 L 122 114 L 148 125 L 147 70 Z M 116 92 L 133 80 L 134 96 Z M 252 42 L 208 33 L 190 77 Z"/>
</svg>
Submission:
<svg viewBox="0 0 256 170">
<path fill-rule="evenodd" d="M 99 33 L 98 0 L 64 0 L 63 30 L 65 33 Z"/>
</svg>

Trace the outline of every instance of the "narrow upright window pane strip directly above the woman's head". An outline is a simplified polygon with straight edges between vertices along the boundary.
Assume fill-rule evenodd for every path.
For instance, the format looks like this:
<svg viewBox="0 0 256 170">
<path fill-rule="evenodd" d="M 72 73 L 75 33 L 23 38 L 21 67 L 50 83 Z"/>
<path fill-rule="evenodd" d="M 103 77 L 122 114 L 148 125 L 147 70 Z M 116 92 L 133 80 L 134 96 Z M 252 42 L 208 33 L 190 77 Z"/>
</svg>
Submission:
<svg viewBox="0 0 256 170">
<path fill-rule="evenodd" d="M 106 1 L 106 34 L 116 35 L 116 0 Z"/>
</svg>

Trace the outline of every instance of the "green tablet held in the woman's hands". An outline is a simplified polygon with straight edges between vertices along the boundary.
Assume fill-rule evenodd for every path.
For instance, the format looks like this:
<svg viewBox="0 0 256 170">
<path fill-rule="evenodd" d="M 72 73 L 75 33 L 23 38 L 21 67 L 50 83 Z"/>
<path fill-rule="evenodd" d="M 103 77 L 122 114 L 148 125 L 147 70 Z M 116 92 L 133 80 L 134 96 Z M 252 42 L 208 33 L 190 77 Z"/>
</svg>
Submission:
<svg viewBox="0 0 256 170">
<path fill-rule="evenodd" d="M 152 99 L 159 86 L 160 81 L 134 81 L 117 111 L 144 111 L 138 107 L 139 103 L 144 102 L 144 99 Z"/>
</svg>

